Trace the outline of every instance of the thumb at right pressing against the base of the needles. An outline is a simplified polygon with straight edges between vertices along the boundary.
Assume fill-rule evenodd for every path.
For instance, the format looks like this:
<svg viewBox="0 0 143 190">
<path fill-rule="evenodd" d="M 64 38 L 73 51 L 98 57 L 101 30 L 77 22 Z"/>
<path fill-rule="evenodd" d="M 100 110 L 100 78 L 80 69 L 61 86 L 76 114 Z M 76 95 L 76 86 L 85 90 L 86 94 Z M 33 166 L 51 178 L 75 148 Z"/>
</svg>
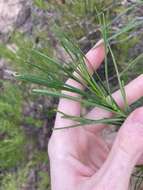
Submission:
<svg viewBox="0 0 143 190">
<path fill-rule="evenodd" d="M 94 176 L 101 189 L 127 190 L 143 153 L 143 107 L 132 112 L 120 128 L 109 157 Z"/>
</svg>

